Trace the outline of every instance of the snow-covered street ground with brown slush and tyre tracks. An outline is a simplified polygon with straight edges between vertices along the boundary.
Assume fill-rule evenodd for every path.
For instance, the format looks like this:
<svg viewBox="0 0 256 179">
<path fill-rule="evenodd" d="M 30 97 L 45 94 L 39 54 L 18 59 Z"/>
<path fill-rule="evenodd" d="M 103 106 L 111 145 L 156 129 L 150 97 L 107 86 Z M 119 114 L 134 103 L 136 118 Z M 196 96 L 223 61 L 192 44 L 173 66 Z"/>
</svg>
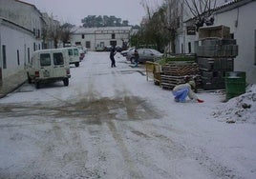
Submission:
<svg viewBox="0 0 256 179">
<path fill-rule="evenodd" d="M 62 83 L 0 99 L 0 178 L 256 178 L 256 87 L 175 103 L 117 54 L 89 52 Z"/>
</svg>

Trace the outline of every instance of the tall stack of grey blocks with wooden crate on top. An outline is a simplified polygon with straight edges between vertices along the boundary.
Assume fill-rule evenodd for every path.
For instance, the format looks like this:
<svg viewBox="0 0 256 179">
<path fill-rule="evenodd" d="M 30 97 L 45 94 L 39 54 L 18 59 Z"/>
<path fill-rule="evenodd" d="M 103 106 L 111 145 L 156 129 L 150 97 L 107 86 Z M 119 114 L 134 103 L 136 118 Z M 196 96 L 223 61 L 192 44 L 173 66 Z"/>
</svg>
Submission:
<svg viewBox="0 0 256 179">
<path fill-rule="evenodd" d="M 224 89 L 225 72 L 234 70 L 238 55 L 236 40 L 230 39 L 230 29 L 224 26 L 201 28 L 199 38 L 195 52 L 203 89 Z"/>
</svg>

